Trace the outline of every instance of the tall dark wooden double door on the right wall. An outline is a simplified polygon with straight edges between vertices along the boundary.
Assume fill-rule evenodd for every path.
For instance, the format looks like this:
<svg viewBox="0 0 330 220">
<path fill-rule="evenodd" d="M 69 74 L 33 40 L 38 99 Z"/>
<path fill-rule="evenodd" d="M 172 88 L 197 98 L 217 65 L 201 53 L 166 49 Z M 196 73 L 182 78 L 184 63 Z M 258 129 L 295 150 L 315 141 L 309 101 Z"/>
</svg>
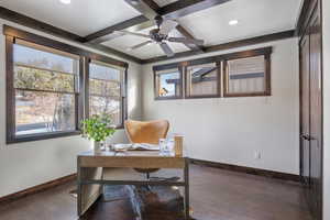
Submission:
<svg viewBox="0 0 330 220">
<path fill-rule="evenodd" d="M 315 220 L 322 219 L 322 30 L 320 2 L 300 41 L 300 174 Z"/>
</svg>

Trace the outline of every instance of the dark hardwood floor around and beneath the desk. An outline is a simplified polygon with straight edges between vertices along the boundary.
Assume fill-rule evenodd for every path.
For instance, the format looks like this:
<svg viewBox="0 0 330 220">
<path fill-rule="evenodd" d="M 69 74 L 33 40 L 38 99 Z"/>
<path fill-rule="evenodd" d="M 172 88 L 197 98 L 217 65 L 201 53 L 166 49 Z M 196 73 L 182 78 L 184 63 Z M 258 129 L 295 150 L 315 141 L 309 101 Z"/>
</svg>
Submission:
<svg viewBox="0 0 330 220">
<path fill-rule="evenodd" d="M 191 165 L 190 199 L 197 220 L 310 220 L 297 183 Z M 0 205 L 0 220 L 73 220 L 76 198 L 66 184 Z M 84 218 L 133 220 L 129 201 L 99 202 Z"/>
</svg>

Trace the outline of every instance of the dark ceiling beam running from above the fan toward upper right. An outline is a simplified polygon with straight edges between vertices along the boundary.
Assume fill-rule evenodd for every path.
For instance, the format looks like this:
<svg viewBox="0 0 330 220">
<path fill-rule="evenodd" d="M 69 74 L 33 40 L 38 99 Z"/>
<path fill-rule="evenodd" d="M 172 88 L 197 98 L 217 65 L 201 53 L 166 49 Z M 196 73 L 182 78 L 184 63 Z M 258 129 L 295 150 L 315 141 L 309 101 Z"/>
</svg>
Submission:
<svg viewBox="0 0 330 220">
<path fill-rule="evenodd" d="M 231 0 L 178 0 L 158 9 L 157 13 L 167 19 L 178 19 L 228 1 Z"/>
</svg>

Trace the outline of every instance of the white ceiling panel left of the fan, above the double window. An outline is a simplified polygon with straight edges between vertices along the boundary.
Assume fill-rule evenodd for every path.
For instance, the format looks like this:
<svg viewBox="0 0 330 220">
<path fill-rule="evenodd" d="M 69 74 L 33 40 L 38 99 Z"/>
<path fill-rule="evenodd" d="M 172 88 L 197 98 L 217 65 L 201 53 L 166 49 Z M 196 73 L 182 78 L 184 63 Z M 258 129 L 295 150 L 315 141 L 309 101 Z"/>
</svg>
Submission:
<svg viewBox="0 0 330 220">
<path fill-rule="evenodd" d="M 140 15 L 123 0 L 0 0 L 0 6 L 81 36 Z"/>
</svg>

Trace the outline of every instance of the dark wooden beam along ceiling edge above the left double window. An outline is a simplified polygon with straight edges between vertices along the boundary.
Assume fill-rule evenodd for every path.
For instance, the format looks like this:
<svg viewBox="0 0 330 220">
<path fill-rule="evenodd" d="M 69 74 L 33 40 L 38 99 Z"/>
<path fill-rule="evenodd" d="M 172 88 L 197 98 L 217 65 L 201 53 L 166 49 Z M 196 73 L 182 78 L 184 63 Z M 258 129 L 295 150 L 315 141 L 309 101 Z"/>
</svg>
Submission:
<svg viewBox="0 0 330 220">
<path fill-rule="evenodd" d="M 139 63 L 139 64 L 142 63 L 142 59 L 140 59 L 140 58 L 128 55 L 128 54 L 122 53 L 120 51 L 117 51 L 114 48 L 103 46 L 101 44 L 94 44 L 94 43 L 82 44 L 81 43 L 81 42 L 84 42 L 82 36 L 79 36 L 77 34 L 70 33 L 68 31 L 58 29 L 56 26 L 53 26 L 51 24 L 47 24 L 45 22 L 35 20 L 35 19 L 30 18 L 30 16 L 26 16 L 24 14 L 11 11 L 11 10 L 6 9 L 3 7 L 0 7 L 0 18 L 4 19 L 7 21 L 18 23 L 20 25 L 30 28 L 30 29 L 42 31 L 44 33 L 47 33 L 47 34 L 51 34 L 51 35 L 54 35 L 54 36 L 58 36 L 61 38 L 69 40 L 72 42 L 78 43 L 81 46 L 88 46 L 91 50 L 99 50 L 100 52 L 103 52 L 103 53 L 109 54 L 109 55 L 116 55 L 116 56 L 118 56 L 120 58 L 123 58 L 123 59 L 127 59 L 127 61 L 135 62 L 135 63 Z"/>
</svg>

